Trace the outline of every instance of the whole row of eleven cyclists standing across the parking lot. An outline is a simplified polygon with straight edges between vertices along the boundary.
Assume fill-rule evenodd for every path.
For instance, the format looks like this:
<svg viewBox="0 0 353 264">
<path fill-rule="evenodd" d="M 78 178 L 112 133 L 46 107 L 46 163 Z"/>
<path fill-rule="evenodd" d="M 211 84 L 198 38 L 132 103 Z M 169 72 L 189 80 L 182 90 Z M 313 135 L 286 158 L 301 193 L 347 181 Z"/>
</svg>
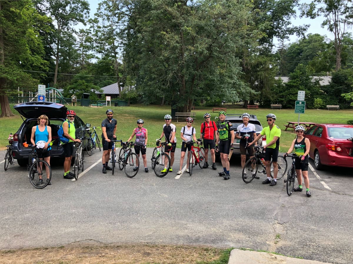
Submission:
<svg viewBox="0 0 353 264">
<path fill-rule="evenodd" d="M 112 150 L 112 144 L 116 140 L 116 125 L 117 121 L 113 118 L 113 110 L 108 109 L 106 111 L 107 118 L 102 121 L 102 173 L 106 174 L 107 170 L 112 170 L 108 165 L 110 151 Z M 70 164 L 73 154 L 73 143 L 79 142 L 80 139 L 75 137 L 75 127 L 74 127 L 74 118 L 76 113 L 73 110 L 68 110 L 66 113 L 67 119 L 63 122 L 62 128 L 64 131 L 64 136 L 69 139 L 68 143 L 63 144 L 64 153 L 65 153 L 65 162 L 64 162 L 64 178 L 71 179 L 73 178 L 72 173 L 70 172 Z M 232 123 L 226 119 L 226 112 L 219 112 L 219 121 L 211 121 L 211 115 L 209 113 L 204 114 L 205 121 L 201 124 L 200 134 L 201 141 L 198 141 L 196 138 L 196 128 L 192 126 L 193 118 L 186 118 L 186 125 L 183 126 L 180 130 L 180 138 L 182 140 L 181 144 L 181 156 L 179 163 L 178 175 L 182 174 L 182 168 L 184 163 L 185 154 L 187 151 L 187 157 L 190 156 L 191 144 L 190 142 L 196 142 L 197 144 L 203 144 L 205 153 L 205 163 L 202 168 L 206 169 L 209 167 L 208 164 L 208 154 L 211 155 L 212 165 L 211 168 L 216 170 L 215 164 L 215 152 L 220 153 L 221 164 L 223 171 L 219 172 L 219 176 L 223 176 L 225 180 L 230 178 L 229 173 L 229 153 L 233 150 L 234 139 L 237 138 L 240 140 L 240 154 L 241 154 L 241 167 L 244 168 L 246 161 L 246 152 L 249 154 L 250 158 L 254 156 L 254 145 L 257 144 L 258 140 L 262 136 L 266 136 L 266 145 L 263 147 L 265 153 L 265 168 L 267 172 L 267 179 L 262 182 L 262 184 L 269 184 L 270 186 L 275 186 L 277 184 L 277 158 L 279 155 L 279 146 L 280 146 L 280 137 L 281 130 L 278 126 L 275 125 L 276 115 L 268 114 L 266 115 L 266 120 L 268 123 L 267 127 L 264 127 L 263 130 L 256 135 L 255 126 L 249 122 L 250 114 L 244 113 L 242 115 L 243 124 L 239 125 L 234 129 Z M 170 166 L 164 167 L 161 172 L 173 171 L 174 164 L 174 153 L 177 146 L 177 136 L 176 130 L 177 127 L 172 124 L 172 116 L 166 114 L 164 116 L 165 124 L 163 124 L 163 130 L 161 136 L 157 140 L 165 139 L 167 147 L 164 150 L 165 153 L 170 157 Z M 32 144 L 37 144 L 43 142 L 44 154 L 40 158 L 46 159 L 49 163 L 50 159 L 50 140 L 51 140 L 51 131 L 50 127 L 47 126 L 48 118 L 46 116 L 41 116 L 38 118 L 38 126 L 33 127 L 32 129 Z M 70 126 L 71 124 L 71 126 Z M 142 155 L 143 165 L 145 172 L 148 172 L 147 168 L 147 159 L 146 159 L 146 145 L 148 142 L 148 131 L 143 127 L 143 119 L 137 120 L 137 127 L 133 129 L 131 136 L 128 138 L 127 142 L 135 137 L 134 150 L 138 157 L 140 153 Z M 235 131 L 235 132 L 234 132 Z M 294 191 L 303 190 L 303 179 L 306 187 L 306 195 L 311 196 L 309 189 L 309 177 L 308 177 L 308 165 L 309 165 L 309 149 L 310 142 L 309 139 L 304 137 L 305 128 L 298 125 L 295 127 L 295 132 L 297 134 L 296 139 L 293 140 L 291 147 L 284 154 L 286 157 L 293 150 L 297 154 L 298 158 L 295 160 L 295 170 L 298 177 L 298 187 Z M 34 140 L 36 139 L 36 140 Z M 36 141 L 36 142 L 35 142 Z M 48 143 L 49 142 L 49 143 Z M 46 152 L 48 149 L 48 152 Z M 273 179 L 270 177 L 271 161 L 273 164 Z M 166 163 L 167 164 L 167 161 Z M 189 164 L 186 164 L 186 172 L 189 172 Z M 255 178 L 259 178 L 255 175 Z"/>
</svg>

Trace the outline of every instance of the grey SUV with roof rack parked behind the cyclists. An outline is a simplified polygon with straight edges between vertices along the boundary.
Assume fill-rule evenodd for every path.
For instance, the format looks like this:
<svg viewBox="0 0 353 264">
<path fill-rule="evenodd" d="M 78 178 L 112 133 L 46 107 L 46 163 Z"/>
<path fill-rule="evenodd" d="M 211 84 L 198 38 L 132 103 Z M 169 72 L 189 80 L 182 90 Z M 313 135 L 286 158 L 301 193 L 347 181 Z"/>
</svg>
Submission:
<svg viewBox="0 0 353 264">
<path fill-rule="evenodd" d="M 241 118 L 243 114 L 227 114 L 226 115 L 226 120 L 228 120 L 229 122 L 232 123 L 233 128 L 234 128 L 234 135 L 235 132 L 237 132 L 237 127 L 241 124 L 243 124 L 243 118 Z M 218 119 L 218 117 L 216 117 L 216 119 Z M 256 129 L 256 135 L 260 134 L 260 132 L 262 131 L 262 125 L 260 123 L 260 121 L 257 119 L 256 115 L 250 115 L 250 119 L 249 119 L 249 123 L 250 124 L 254 124 L 255 125 L 255 129 Z M 240 147 L 239 147 L 239 142 L 240 139 L 235 138 L 234 139 L 234 150 L 233 150 L 233 155 L 237 155 L 240 156 Z M 257 142 L 258 146 L 264 146 L 266 145 L 266 136 L 263 136 L 262 138 L 260 138 Z M 215 152 L 216 155 L 219 156 L 219 153 Z M 248 154 L 247 154 L 248 155 Z"/>
</svg>

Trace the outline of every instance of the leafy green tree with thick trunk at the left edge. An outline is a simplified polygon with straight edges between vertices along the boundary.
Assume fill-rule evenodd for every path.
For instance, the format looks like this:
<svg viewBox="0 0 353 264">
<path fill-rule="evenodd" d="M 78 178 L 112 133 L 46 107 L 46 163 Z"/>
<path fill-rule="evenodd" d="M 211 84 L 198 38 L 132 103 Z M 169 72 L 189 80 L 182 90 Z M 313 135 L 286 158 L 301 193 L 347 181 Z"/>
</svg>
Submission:
<svg viewBox="0 0 353 264">
<path fill-rule="evenodd" d="M 39 83 L 30 73 L 47 69 L 37 23 L 48 32 L 44 25 L 49 22 L 50 18 L 38 14 L 32 1 L 0 1 L 1 117 L 13 115 L 8 96 L 16 93 L 17 87 L 33 89 Z"/>
</svg>

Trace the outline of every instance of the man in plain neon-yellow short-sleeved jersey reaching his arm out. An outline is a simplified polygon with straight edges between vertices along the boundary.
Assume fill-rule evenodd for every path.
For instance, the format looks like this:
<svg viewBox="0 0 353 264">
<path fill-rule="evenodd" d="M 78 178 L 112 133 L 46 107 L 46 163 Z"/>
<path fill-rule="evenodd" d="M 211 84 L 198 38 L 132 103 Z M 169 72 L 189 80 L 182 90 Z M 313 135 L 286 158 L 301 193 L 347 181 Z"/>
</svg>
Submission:
<svg viewBox="0 0 353 264">
<path fill-rule="evenodd" d="M 268 114 L 266 115 L 267 127 L 264 127 L 260 134 L 255 137 L 255 139 L 249 143 L 249 145 L 254 144 L 261 138 L 266 135 L 266 145 L 264 146 L 265 152 L 265 162 L 266 162 L 266 175 L 267 179 L 262 182 L 262 184 L 270 183 L 270 186 L 275 186 L 277 184 L 277 174 L 278 174 L 278 166 L 277 166 L 277 158 L 278 152 L 280 149 L 280 137 L 281 137 L 281 129 L 275 125 L 276 115 Z M 271 158 L 273 163 L 273 180 L 271 181 Z"/>
</svg>

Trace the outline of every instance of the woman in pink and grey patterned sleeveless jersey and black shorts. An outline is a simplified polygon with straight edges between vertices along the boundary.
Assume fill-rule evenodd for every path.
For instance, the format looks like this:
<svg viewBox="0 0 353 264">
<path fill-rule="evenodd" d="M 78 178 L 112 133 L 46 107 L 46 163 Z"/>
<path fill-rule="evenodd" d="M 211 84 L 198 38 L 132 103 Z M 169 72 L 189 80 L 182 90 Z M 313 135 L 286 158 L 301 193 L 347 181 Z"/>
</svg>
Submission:
<svg viewBox="0 0 353 264">
<path fill-rule="evenodd" d="M 145 166 L 145 172 L 148 172 L 147 168 L 147 159 L 146 159 L 146 145 L 147 145 L 147 129 L 143 127 L 144 121 L 142 119 L 137 120 L 137 128 L 132 131 L 130 138 L 127 140 L 127 143 L 136 135 L 135 139 L 135 153 L 137 154 L 138 158 L 140 157 L 140 150 L 142 155 L 143 165 Z M 138 163 L 136 158 L 136 164 Z M 134 171 L 137 170 L 137 167 L 133 169 Z"/>
</svg>

